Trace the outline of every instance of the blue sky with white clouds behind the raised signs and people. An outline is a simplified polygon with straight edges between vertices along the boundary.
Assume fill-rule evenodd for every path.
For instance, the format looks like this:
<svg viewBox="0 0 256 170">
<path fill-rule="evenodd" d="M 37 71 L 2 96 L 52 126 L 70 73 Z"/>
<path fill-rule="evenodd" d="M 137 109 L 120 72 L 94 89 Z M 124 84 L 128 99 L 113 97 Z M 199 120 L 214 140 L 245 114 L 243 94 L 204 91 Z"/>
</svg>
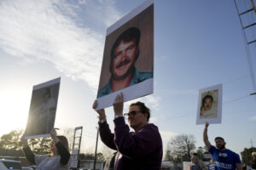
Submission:
<svg viewBox="0 0 256 170">
<path fill-rule="evenodd" d="M 75 3 L 74 3 L 75 2 Z M 242 3 L 241 3 L 242 2 Z M 0 3 L 0 135 L 25 128 L 32 86 L 61 77 L 55 127 L 84 127 L 83 150 L 94 150 L 96 99 L 106 29 L 143 0 L 2 0 Z M 241 11 L 245 8 L 240 1 Z M 244 20 L 255 20 L 250 14 Z M 247 31 L 255 37 L 255 28 Z M 255 39 L 255 38 L 254 38 Z M 194 134 L 198 92 L 223 84 L 223 118 L 209 139 L 223 136 L 241 152 L 256 145 L 256 96 L 233 1 L 162 0 L 154 3 L 152 109 L 164 146 L 177 134 Z M 256 45 L 250 46 L 253 77 Z M 127 111 L 127 104 L 125 110 Z M 107 109 L 113 128 L 113 108 Z M 101 144 L 102 145 L 102 144 Z"/>
</svg>

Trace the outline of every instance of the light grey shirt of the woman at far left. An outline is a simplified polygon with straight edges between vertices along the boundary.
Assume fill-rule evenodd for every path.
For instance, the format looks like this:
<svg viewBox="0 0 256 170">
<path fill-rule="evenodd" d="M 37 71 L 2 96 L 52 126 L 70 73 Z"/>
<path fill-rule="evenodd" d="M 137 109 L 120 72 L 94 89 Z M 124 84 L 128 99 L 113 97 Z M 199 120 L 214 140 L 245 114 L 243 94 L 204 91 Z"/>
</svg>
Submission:
<svg viewBox="0 0 256 170">
<path fill-rule="evenodd" d="M 67 170 L 68 165 L 61 164 L 61 156 L 35 155 L 37 170 Z"/>
</svg>

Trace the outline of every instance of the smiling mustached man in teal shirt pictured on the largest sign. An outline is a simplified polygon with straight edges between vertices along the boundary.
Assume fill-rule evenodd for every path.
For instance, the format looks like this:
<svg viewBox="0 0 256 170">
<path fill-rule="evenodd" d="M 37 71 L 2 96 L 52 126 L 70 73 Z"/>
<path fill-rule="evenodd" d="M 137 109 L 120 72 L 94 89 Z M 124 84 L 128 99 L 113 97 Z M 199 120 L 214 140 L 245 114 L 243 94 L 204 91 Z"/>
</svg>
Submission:
<svg viewBox="0 0 256 170">
<path fill-rule="evenodd" d="M 130 27 L 113 43 L 109 66 L 111 77 L 109 82 L 98 91 L 97 98 L 153 77 L 152 72 L 141 72 L 135 67 L 140 53 L 140 35 L 139 29 Z"/>
</svg>

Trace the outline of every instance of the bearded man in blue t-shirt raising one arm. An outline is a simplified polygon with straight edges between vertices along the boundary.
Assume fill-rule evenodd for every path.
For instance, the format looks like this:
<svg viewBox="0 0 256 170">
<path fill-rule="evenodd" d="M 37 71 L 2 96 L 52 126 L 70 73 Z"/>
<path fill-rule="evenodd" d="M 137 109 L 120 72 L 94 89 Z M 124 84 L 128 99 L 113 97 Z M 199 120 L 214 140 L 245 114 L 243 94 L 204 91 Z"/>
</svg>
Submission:
<svg viewBox="0 0 256 170">
<path fill-rule="evenodd" d="M 215 138 L 215 146 L 208 140 L 207 130 L 209 124 L 206 122 L 203 132 L 203 140 L 207 150 L 212 154 L 215 170 L 241 170 L 240 157 L 233 151 L 225 148 L 225 141 L 222 137 Z"/>
</svg>

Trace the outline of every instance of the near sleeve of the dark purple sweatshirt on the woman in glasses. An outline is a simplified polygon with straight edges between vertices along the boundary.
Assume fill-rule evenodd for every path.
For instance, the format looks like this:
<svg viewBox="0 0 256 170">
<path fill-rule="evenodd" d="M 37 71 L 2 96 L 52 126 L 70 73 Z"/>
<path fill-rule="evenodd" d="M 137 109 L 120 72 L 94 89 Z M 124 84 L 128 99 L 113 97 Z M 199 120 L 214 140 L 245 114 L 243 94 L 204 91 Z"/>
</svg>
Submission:
<svg viewBox="0 0 256 170">
<path fill-rule="evenodd" d="M 137 133 L 130 133 L 124 117 L 114 119 L 114 143 L 119 152 L 130 158 L 148 156 L 162 150 L 162 141 L 157 127 L 144 127 Z"/>
</svg>

